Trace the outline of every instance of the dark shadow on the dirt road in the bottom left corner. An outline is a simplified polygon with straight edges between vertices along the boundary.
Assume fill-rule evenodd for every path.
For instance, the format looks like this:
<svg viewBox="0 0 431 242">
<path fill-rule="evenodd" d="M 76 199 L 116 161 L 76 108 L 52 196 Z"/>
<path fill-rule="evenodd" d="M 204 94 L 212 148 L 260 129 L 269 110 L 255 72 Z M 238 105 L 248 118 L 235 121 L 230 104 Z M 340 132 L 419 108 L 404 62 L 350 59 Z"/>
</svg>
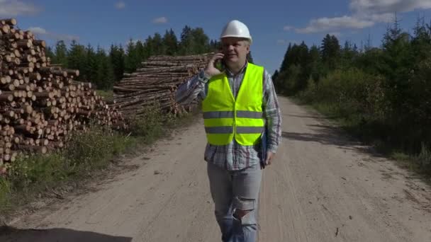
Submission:
<svg viewBox="0 0 431 242">
<path fill-rule="evenodd" d="M 130 242 L 132 238 L 73 229 L 15 229 L 0 226 L 2 242 Z"/>
</svg>

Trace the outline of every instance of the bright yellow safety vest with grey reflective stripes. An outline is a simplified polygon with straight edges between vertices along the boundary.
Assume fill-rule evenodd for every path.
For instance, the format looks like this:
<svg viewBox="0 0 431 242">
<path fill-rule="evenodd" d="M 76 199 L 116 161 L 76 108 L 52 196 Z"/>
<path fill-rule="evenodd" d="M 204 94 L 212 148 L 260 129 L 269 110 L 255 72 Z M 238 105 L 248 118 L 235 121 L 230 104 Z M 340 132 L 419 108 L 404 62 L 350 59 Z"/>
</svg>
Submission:
<svg viewBox="0 0 431 242">
<path fill-rule="evenodd" d="M 262 113 L 264 68 L 247 64 L 237 98 L 224 73 L 211 77 L 202 101 L 203 122 L 209 144 L 226 145 L 233 138 L 242 145 L 259 142 L 264 130 Z"/>
</svg>

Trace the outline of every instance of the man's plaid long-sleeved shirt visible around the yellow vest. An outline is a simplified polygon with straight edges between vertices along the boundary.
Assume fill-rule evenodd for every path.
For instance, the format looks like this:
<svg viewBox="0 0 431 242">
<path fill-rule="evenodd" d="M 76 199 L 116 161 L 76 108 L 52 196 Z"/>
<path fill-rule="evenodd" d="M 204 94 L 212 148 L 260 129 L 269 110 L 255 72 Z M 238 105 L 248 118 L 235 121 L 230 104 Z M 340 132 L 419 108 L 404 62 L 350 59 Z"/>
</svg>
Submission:
<svg viewBox="0 0 431 242">
<path fill-rule="evenodd" d="M 228 76 L 230 89 L 236 98 L 244 78 L 245 67 L 235 76 L 228 69 L 225 73 Z M 208 93 L 208 77 L 201 71 L 193 78 L 181 84 L 177 90 L 177 103 L 190 103 L 196 98 L 203 100 Z M 281 113 L 277 100 L 274 84 L 271 75 L 264 71 L 264 117 L 267 125 L 267 151 L 276 152 L 281 140 Z M 254 166 L 262 161 L 262 144 L 253 146 L 242 146 L 235 139 L 225 146 L 215 146 L 206 144 L 204 159 L 214 163 L 229 171 L 240 170 L 249 166 Z"/>
</svg>

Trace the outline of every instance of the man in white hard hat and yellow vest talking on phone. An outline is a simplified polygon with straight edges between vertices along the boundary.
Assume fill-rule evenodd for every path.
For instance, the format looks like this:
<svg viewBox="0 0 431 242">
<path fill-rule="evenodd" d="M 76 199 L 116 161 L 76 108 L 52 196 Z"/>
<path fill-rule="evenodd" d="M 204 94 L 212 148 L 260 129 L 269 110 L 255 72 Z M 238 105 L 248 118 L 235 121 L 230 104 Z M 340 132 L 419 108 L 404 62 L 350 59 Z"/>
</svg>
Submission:
<svg viewBox="0 0 431 242">
<path fill-rule="evenodd" d="M 272 163 L 281 139 L 281 114 L 271 76 L 247 62 L 252 37 L 230 21 L 222 51 L 177 91 L 177 102 L 202 100 L 208 144 L 204 159 L 222 241 L 256 241 L 262 169 Z M 221 61 L 223 71 L 215 68 Z"/>
</svg>

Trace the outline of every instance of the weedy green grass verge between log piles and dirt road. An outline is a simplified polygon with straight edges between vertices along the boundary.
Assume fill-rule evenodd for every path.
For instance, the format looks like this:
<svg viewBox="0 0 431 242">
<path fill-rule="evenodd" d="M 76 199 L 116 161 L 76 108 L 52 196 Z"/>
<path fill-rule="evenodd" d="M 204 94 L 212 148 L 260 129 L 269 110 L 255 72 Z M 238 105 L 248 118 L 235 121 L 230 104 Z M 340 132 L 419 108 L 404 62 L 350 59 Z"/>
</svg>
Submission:
<svg viewBox="0 0 431 242">
<path fill-rule="evenodd" d="M 91 125 L 88 132 L 74 132 L 65 149 L 48 154 L 18 156 L 5 175 L 0 175 L 0 221 L 38 197 L 77 183 L 85 183 L 97 171 L 115 164 L 121 154 L 131 154 L 174 127 L 186 125 L 195 113 L 174 117 L 157 107 L 135 118 L 127 132 L 113 132 Z"/>
</svg>

